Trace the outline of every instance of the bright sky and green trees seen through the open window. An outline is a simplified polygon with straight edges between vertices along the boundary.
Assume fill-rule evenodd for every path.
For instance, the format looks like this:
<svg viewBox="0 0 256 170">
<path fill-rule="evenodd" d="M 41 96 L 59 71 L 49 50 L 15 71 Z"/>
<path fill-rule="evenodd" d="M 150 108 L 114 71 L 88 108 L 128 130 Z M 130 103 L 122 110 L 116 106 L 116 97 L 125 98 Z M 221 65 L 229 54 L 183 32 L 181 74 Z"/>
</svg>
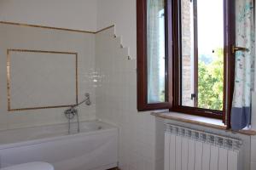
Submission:
<svg viewBox="0 0 256 170">
<path fill-rule="evenodd" d="M 198 107 L 223 110 L 224 3 L 197 0 Z"/>
</svg>

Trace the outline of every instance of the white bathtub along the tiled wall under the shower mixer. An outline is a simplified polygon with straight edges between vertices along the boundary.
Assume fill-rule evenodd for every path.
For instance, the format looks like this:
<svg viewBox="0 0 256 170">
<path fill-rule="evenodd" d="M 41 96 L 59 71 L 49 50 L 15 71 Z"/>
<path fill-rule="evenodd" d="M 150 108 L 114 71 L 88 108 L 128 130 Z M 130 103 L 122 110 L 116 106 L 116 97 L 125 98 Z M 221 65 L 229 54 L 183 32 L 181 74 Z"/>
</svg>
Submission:
<svg viewBox="0 0 256 170">
<path fill-rule="evenodd" d="M 75 125 L 72 126 L 75 128 Z M 55 170 L 106 170 L 117 167 L 118 128 L 81 122 L 67 134 L 67 123 L 0 131 L 0 167 L 46 161 Z"/>
</svg>

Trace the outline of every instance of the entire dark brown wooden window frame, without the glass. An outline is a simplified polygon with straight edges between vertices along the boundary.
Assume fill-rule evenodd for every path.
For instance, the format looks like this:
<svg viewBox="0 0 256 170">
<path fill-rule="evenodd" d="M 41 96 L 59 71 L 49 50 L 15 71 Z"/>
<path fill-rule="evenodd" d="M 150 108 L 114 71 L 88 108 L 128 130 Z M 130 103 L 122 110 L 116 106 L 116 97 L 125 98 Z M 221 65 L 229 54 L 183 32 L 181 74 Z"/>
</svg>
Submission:
<svg viewBox="0 0 256 170">
<path fill-rule="evenodd" d="M 234 91 L 235 57 L 232 46 L 235 44 L 235 4 L 224 0 L 224 111 L 187 107 L 178 101 L 179 80 L 179 18 L 180 0 L 166 2 L 166 102 L 148 104 L 147 82 L 147 0 L 137 0 L 137 110 L 153 111 L 169 109 L 197 116 L 222 119 L 230 127 L 230 110 Z M 172 17 L 171 17 L 172 16 Z M 229 56 L 229 57 L 228 57 Z"/>
</svg>

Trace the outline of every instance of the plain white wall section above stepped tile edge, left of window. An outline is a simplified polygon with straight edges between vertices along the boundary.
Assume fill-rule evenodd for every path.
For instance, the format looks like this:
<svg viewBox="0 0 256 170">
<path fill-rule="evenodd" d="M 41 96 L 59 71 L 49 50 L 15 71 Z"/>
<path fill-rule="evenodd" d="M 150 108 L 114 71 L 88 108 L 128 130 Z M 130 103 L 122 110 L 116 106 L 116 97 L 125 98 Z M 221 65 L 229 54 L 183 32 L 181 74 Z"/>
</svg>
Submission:
<svg viewBox="0 0 256 170">
<path fill-rule="evenodd" d="M 115 33 L 133 59 L 137 58 L 136 20 L 136 0 L 97 0 L 97 28 L 115 24 Z"/>
</svg>

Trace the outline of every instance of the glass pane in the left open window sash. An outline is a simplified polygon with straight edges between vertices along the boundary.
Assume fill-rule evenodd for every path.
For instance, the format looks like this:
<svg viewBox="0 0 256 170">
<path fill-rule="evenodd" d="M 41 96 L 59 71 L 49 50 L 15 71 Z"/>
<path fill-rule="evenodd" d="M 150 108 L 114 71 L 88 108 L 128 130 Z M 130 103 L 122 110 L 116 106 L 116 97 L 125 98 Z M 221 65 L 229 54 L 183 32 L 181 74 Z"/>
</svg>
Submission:
<svg viewBox="0 0 256 170">
<path fill-rule="evenodd" d="M 148 103 L 166 101 L 165 1 L 147 0 Z"/>
</svg>

